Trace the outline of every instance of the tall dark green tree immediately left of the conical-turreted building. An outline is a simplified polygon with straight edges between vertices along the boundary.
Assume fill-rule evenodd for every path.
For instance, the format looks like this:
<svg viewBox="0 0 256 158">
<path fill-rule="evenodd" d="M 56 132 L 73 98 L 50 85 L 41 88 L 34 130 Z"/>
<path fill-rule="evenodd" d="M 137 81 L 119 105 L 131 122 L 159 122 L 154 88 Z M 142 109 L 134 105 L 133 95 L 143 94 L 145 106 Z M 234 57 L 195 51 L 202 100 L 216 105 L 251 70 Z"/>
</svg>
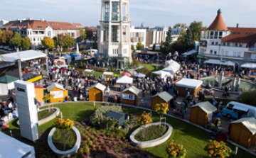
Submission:
<svg viewBox="0 0 256 158">
<path fill-rule="evenodd" d="M 199 41 L 201 38 L 201 30 L 203 29 L 203 22 L 193 21 L 188 27 L 188 29 L 191 30 L 192 39 Z"/>
</svg>

